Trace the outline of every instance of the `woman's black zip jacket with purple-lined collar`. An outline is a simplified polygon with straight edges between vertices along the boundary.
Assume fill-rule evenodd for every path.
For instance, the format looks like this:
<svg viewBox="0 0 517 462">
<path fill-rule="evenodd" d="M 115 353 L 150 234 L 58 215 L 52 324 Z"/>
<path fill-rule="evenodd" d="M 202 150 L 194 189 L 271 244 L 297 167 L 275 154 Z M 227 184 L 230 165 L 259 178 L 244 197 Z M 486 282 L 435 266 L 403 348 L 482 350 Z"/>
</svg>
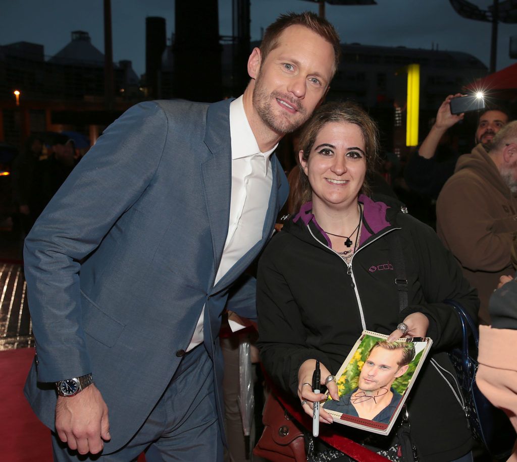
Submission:
<svg viewBox="0 0 517 462">
<path fill-rule="evenodd" d="M 412 439 L 421 461 L 454 460 L 470 450 L 472 439 L 463 409 L 440 375 L 452 381 L 446 352 L 461 340 L 459 319 L 443 300 L 459 302 L 477 320 L 476 291 L 430 227 L 398 205 L 366 196 L 359 202 L 364 206 L 361 242 L 350 267 L 330 248 L 310 203 L 266 247 L 257 274 L 264 367 L 280 388 L 297 396 L 303 361 L 318 359 L 335 374 L 363 329 L 390 334 L 408 314 L 421 312 L 429 318 L 433 346 L 407 401 Z M 399 234 L 406 267 L 403 311 L 389 233 Z M 353 429 L 333 426 L 356 439 Z"/>
</svg>

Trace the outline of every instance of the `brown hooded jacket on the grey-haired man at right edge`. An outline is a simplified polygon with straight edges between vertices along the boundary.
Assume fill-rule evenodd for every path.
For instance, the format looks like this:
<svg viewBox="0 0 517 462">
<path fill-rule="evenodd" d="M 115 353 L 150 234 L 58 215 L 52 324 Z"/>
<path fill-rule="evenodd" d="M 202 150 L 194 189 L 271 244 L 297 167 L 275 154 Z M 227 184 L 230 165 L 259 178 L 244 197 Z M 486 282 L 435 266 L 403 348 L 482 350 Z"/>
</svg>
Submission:
<svg viewBox="0 0 517 462">
<path fill-rule="evenodd" d="M 478 290 L 481 324 L 490 324 L 488 299 L 499 277 L 513 275 L 510 249 L 517 234 L 517 195 L 481 145 L 462 155 L 436 203 L 436 231 Z"/>
</svg>

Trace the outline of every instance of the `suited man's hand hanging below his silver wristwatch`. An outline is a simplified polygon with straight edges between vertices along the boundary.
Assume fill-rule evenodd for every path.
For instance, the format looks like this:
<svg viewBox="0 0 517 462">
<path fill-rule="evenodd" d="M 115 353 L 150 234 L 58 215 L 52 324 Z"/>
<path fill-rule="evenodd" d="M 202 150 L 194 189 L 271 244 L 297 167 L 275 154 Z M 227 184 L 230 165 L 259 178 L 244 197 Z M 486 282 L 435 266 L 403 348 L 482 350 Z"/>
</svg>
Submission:
<svg viewBox="0 0 517 462">
<path fill-rule="evenodd" d="M 79 454 L 97 454 L 111 439 L 108 406 L 92 384 L 75 396 L 58 396 L 56 432 L 59 439 Z"/>
</svg>

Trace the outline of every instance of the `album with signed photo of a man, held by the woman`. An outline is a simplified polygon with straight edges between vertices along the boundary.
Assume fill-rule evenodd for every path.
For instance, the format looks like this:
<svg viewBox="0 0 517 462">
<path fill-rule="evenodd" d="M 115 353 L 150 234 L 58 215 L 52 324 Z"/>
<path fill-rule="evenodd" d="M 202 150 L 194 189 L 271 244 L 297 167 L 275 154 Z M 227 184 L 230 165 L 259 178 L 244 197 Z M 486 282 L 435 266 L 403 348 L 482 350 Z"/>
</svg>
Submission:
<svg viewBox="0 0 517 462">
<path fill-rule="evenodd" d="M 388 343 L 387 338 L 364 330 L 346 357 L 336 374 L 339 401 L 329 395 L 322 404 L 334 422 L 390 432 L 433 341 L 409 337 Z"/>
</svg>

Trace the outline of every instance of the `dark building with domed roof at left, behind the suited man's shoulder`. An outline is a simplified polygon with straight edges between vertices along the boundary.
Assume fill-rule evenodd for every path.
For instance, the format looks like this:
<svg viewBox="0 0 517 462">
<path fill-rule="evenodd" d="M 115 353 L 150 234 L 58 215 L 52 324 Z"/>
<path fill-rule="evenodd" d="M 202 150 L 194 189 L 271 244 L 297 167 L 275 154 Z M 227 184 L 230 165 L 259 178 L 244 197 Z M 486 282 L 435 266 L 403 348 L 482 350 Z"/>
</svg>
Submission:
<svg viewBox="0 0 517 462">
<path fill-rule="evenodd" d="M 93 143 L 105 125 L 142 100 L 131 61 L 114 64 L 114 84 L 115 109 L 107 113 L 104 55 L 85 31 L 73 31 L 70 43 L 51 57 L 36 43 L 0 46 L 0 140 L 21 146 L 29 133 L 73 130 Z"/>
</svg>

